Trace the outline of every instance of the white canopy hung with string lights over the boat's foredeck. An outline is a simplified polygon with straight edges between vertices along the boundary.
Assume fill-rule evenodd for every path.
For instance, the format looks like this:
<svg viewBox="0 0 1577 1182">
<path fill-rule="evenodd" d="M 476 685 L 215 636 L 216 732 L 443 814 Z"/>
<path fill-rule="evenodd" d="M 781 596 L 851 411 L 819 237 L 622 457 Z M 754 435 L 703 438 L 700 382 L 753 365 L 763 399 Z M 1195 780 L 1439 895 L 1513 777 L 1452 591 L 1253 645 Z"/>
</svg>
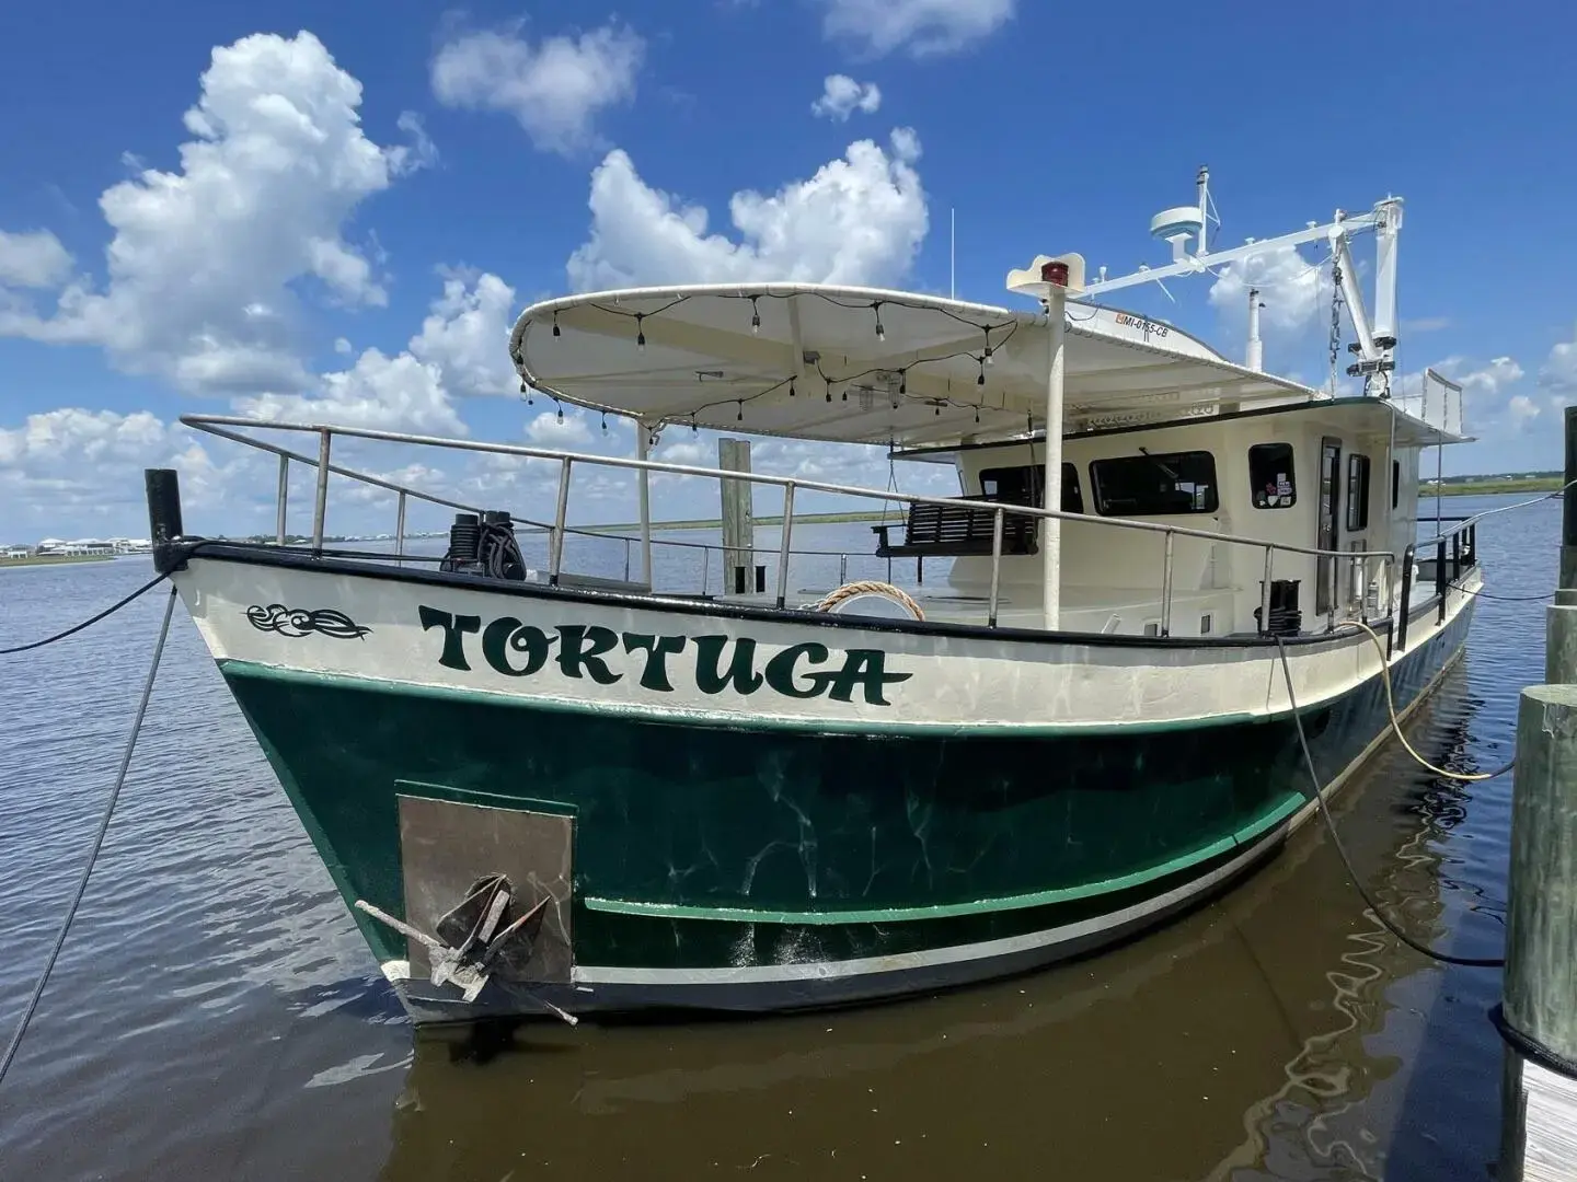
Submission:
<svg viewBox="0 0 1577 1182">
<path fill-rule="evenodd" d="M 1120 309 L 1071 303 L 1066 325 L 1064 432 L 1318 397 Z M 1044 310 L 820 284 L 566 296 L 509 337 L 535 389 L 648 427 L 905 448 L 1044 430 L 1047 347 Z"/>
</svg>

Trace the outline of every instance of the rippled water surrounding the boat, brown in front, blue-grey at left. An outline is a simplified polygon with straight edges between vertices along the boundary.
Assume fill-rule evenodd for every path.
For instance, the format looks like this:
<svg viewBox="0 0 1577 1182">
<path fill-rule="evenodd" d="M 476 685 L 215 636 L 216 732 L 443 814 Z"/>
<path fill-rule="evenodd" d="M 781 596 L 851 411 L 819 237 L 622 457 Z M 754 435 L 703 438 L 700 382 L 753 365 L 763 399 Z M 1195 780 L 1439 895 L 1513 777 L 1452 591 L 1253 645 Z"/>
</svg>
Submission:
<svg viewBox="0 0 1577 1182">
<path fill-rule="evenodd" d="M 1553 585 L 1558 506 L 1479 534 L 1492 591 Z M 826 526 L 820 542 L 869 536 Z M 0 646 L 148 572 L 0 572 Z M 74 886 L 161 610 L 147 596 L 0 659 L 0 1037 Z M 1415 744 L 1501 763 L 1515 692 L 1541 679 L 1542 607 L 1481 602 Z M 1437 782 L 1392 744 L 1337 815 L 1415 935 L 1490 955 L 1508 794 L 1509 779 Z M 0 1089 L 0 1179 L 1482 1179 L 1498 993 L 1498 974 L 1388 936 L 1310 826 L 1183 920 L 1030 977 L 822 1015 L 413 1048 L 178 610 L 121 812 Z"/>
</svg>

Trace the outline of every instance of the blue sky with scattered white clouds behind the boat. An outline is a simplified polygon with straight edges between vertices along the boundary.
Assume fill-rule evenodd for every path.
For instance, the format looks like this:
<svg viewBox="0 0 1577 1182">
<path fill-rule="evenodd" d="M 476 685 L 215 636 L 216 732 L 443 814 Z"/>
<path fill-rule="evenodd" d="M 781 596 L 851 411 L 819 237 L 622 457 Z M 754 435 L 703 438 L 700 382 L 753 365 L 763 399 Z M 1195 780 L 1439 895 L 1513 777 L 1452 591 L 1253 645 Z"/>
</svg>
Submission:
<svg viewBox="0 0 1577 1182">
<path fill-rule="evenodd" d="M 1542 11 L 1534 11 L 1542 9 Z M 1400 194 L 1399 381 L 1465 388 L 1448 473 L 1556 468 L 1577 400 L 1577 13 L 1449 0 L 1120 9 L 1055 0 L 322 5 L 55 0 L 0 41 L 0 541 L 271 531 L 273 459 L 183 413 L 634 452 L 628 424 L 528 405 L 514 317 L 566 292 L 800 277 L 1019 306 L 1008 269 L 1169 260 L 1148 219 L 1211 169 L 1219 244 Z M 1356 244 L 1372 290 L 1372 238 Z M 1312 249 L 1113 293 L 1322 385 Z M 1347 329 L 1345 339 L 1351 339 Z M 1345 362 L 1344 353 L 1344 362 Z M 714 462 L 708 432 L 656 454 Z M 544 515 L 552 471 L 347 444 L 347 463 Z M 941 489 L 877 449 L 755 443 L 759 471 Z M 304 530 L 308 473 L 292 485 Z M 953 489 L 946 489 L 953 492 Z M 393 530 L 336 489 L 331 533 Z M 708 514 L 700 482 L 659 517 Z M 579 520 L 629 520 L 587 473 Z M 413 515 L 434 528 L 442 517 Z"/>
</svg>

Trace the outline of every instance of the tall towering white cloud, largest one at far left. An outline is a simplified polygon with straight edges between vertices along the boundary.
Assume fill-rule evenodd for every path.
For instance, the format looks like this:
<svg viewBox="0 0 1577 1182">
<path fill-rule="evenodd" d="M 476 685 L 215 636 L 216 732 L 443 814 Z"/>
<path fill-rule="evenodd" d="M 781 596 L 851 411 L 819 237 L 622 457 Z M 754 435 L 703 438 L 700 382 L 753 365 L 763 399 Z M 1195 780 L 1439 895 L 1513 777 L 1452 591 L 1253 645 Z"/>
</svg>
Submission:
<svg viewBox="0 0 1577 1182">
<path fill-rule="evenodd" d="M 424 137 L 413 148 L 369 140 L 360 106 L 361 84 L 311 33 L 216 47 L 185 117 L 180 169 L 142 169 L 99 197 L 114 232 L 106 281 L 69 284 L 44 314 L 9 301 L 0 336 L 99 345 L 118 369 L 191 392 L 308 386 L 298 281 L 315 279 L 336 303 L 383 304 L 342 227 L 431 158 Z"/>
</svg>

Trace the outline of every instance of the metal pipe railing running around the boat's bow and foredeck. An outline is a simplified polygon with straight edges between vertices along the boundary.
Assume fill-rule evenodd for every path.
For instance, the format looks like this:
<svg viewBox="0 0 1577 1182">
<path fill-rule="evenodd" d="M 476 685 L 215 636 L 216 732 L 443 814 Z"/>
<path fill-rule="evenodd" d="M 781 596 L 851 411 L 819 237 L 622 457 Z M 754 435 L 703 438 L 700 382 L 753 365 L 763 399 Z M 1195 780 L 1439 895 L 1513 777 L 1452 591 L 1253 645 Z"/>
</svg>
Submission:
<svg viewBox="0 0 1577 1182">
<path fill-rule="evenodd" d="M 549 460 L 558 463 L 558 489 L 557 501 L 552 523 L 533 522 L 531 519 L 516 519 L 511 520 L 542 528 L 549 534 L 549 569 L 547 582 L 550 585 L 558 585 L 563 575 L 565 561 L 565 541 L 569 534 L 585 534 L 593 537 L 618 537 L 618 534 L 606 534 L 595 530 L 585 530 L 571 526 L 568 523 L 569 514 L 569 485 L 577 465 L 588 465 L 593 468 L 620 468 L 626 471 L 637 473 L 665 473 L 672 476 L 695 476 L 703 479 L 735 479 L 746 481 L 752 485 L 762 484 L 768 487 L 782 489 L 784 509 L 781 536 L 777 545 L 777 577 L 776 577 L 776 604 L 777 607 L 787 605 L 787 588 L 788 588 L 788 559 L 795 553 L 823 553 L 823 555 L 839 555 L 842 559 L 842 569 L 847 571 L 847 552 L 841 550 L 820 550 L 820 552 L 795 552 L 792 548 L 793 534 L 793 503 L 795 493 L 798 490 L 804 492 L 820 492 L 833 493 L 841 496 L 852 496 L 861 500 L 897 503 L 905 506 L 915 504 L 940 504 L 949 507 L 978 509 L 992 514 L 992 550 L 990 550 L 990 596 L 987 602 L 987 626 L 995 627 L 998 619 L 998 608 L 1001 600 L 1001 559 L 1003 559 L 1003 533 L 1008 514 L 1031 517 L 1031 519 L 1055 519 L 1060 522 L 1080 522 L 1085 525 L 1096 525 L 1110 530 L 1124 530 L 1137 533 L 1161 534 L 1162 552 L 1161 552 L 1161 635 L 1170 635 L 1172 627 L 1172 599 L 1173 599 L 1173 567 L 1175 567 L 1175 542 L 1178 537 L 1194 537 L 1208 542 L 1219 542 L 1227 545 L 1249 547 L 1255 550 L 1263 550 L 1265 553 L 1265 578 L 1262 585 L 1262 611 L 1260 611 L 1260 630 L 1265 630 L 1269 624 L 1269 604 L 1271 604 L 1271 582 L 1274 574 L 1274 561 L 1277 553 L 1284 555 L 1299 555 L 1304 558 L 1331 558 L 1333 566 L 1339 571 L 1342 563 L 1348 563 L 1348 571 L 1358 571 L 1358 564 L 1363 571 L 1363 578 L 1356 580 L 1363 586 L 1369 585 L 1370 564 L 1378 564 L 1380 569 L 1389 571 L 1396 564 L 1396 555 L 1389 550 L 1320 550 L 1317 547 L 1295 545 L 1288 542 L 1268 542 L 1262 539 L 1238 537 L 1233 534 L 1224 534 L 1211 530 L 1195 530 L 1181 525 L 1161 525 L 1158 522 L 1140 522 L 1124 517 L 1098 517 L 1080 512 L 1069 512 L 1063 509 L 1044 509 L 1039 506 L 1028 504 L 1005 504 L 1000 501 L 982 501 L 967 496 L 934 496 L 926 493 L 902 493 L 891 489 L 863 489 L 858 485 L 833 484 L 828 481 L 812 481 L 801 479 L 795 476 L 771 476 L 765 473 L 740 473 L 727 471 L 721 468 L 700 468 L 686 463 L 670 463 L 665 460 L 637 460 L 615 455 L 593 455 L 583 452 L 563 452 L 549 448 L 528 448 L 509 443 L 481 443 L 472 440 L 449 440 L 434 435 L 413 435 L 407 432 L 390 432 L 390 430 L 374 430 L 366 427 L 331 427 L 319 424 L 300 424 L 300 422 L 267 422 L 259 419 L 244 419 L 224 414 L 183 414 L 181 422 L 188 427 L 216 435 L 235 443 L 246 444 L 249 448 L 259 448 L 262 451 L 271 452 L 279 457 L 279 503 L 276 512 L 276 539 L 282 545 L 285 539 L 285 501 L 289 487 L 289 465 L 304 463 L 317 471 L 315 496 L 312 506 L 312 550 L 314 553 L 323 552 L 323 522 L 328 509 L 328 478 L 330 474 L 344 476 L 347 479 L 360 481 L 374 487 L 385 489 L 397 495 L 397 537 L 396 537 L 396 558 L 405 556 L 405 507 L 407 498 L 416 498 L 429 504 L 437 504 L 449 509 L 457 509 L 460 512 L 479 514 L 481 509 L 473 504 L 465 504 L 437 493 L 421 492 L 418 489 L 410 489 L 382 476 L 374 476 L 371 473 L 355 471 L 345 468 L 344 465 L 334 463 L 331 460 L 333 438 L 336 435 L 345 438 L 372 440 L 378 443 L 397 443 L 426 448 L 446 448 L 453 451 L 468 451 L 492 455 L 516 455 L 531 460 Z M 232 427 L 251 427 L 254 430 L 284 430 L 296 433 L 315 435 L 319 441 L 317 457 L 311 457 L 301 452 L 289 451 L 267 440 L 260 440 L 255 435 L 243 433 L 238 430 L 230 430 Z M 636 539 L 624 539 L 626 545 Z M 673 542 L 659 539 L 650 539 L 653 545 L 669 544 L 669 545 L 689 545 L 702 550 L 721 550 L 722 547 L 703 544 L 703 542 Z M 762 553 L 760 550 L 752 550 L 752 553 Z M 628 552 L 626 552 L 626 574 L 628 574 Z M 1339 586 L 1340 583 L 1337 583 Z M 1394 611 L 1394 591 L 1396 580 L 1388 578 L 1388 599 L 1389 604 L 1385 605 L 1386 615 Z M 1358 597 L 1358 610 L 1366 613 L 1364 596 Z M 1405 604 L 1405 599 L 1402 600 Z M 1333 607 L 1333 623 L 1334 623 L 1334 607 Z"/>
</svg>

